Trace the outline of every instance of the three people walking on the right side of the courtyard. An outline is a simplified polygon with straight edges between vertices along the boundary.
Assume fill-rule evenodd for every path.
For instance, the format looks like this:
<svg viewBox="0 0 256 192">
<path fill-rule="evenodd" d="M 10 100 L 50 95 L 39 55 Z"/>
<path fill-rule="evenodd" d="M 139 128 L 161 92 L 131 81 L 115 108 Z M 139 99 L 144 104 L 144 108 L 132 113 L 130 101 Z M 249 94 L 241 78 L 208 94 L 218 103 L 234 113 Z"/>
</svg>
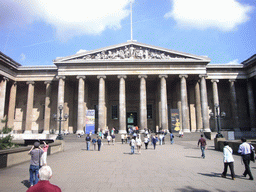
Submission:
<svg viewBox="0 0 256 192">
<path fill-rule="evenodd" d="M 238 153 L 241 155 L 244 166 L 245 166 L 245 171 L 243 173 L 243 176 L 246 177 L 247 175 L 249 176 L 249 180 L 254 180 L 253 175 L 251 173 L 250 169 L 250 162 L 255 161 L 254 155 L 254 147 L 246 142 L 246 138 L 242 137 L 241 138 L 242 144 L 239 145 L 238 148 Z M 201 151 L 202 151 L 202 157 L 205 158 L 205 149 L 206 149 L 206 140 L 203 138 L 203 135 L 201 135 L 201 138 L 198 140 L 198 146 L 200 144 Z M 235 180 L 235 171 L 234 171 L 234 158 L 233 158 L 233 150 L 232 148 L 228 145 L 227 141 L 224 141 L 223 143 L 223 162 L 224 162 L 224 170 L 221 174 L 221 177 L 226 178 L 227 175 L 227 170 L 228 167 L 231 172 L 231 178 L 232 180 Z"/>
</svg>

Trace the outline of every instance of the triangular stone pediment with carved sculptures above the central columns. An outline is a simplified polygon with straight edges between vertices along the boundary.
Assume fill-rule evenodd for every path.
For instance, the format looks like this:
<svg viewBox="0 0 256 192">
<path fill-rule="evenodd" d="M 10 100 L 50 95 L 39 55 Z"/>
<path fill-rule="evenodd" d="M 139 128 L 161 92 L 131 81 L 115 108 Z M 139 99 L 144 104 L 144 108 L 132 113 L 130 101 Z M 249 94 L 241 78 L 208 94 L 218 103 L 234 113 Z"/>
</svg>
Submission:
<svg viewBox="0 0 256 192">
<path fill-rule="evenodd" d="M 208 61 L 208 57 L 191 55 L 188 53 L 173 51 L 170 49 L 155 47 L 138 43 L 136 41 L 130 41 L 114 46 L 109 46 L 97 50 L 87 51 L 84 53 L 58 58 L 55 63 L 72 63 L 72 62 L 91 62 L 91 61 L 147 61 L 147 60 L 159 60 L 159 61 Z"/>
</svg>

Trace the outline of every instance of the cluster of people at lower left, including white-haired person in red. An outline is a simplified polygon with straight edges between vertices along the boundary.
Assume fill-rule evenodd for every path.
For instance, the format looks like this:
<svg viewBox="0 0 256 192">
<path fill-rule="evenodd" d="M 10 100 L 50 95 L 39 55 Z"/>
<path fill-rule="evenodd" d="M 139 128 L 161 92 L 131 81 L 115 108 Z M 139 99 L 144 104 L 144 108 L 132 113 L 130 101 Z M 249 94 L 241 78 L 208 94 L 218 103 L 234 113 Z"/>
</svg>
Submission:
<svg viewBox="0 0 256 192">
<path fill-rule="evenodd" d="M 29 167 L 29 182 L 30 188 L 27 192 L 38 191 L 56 191 L 61 189 L 49 182 L 52 177 L 52 169 L 47 165 L 47 150 L 49 145 L 43 141 L 43 148 L 40 147 L 40 142 L 36 141 L 29 150 L 28 154 L 31 156 Z"/>
</svg>

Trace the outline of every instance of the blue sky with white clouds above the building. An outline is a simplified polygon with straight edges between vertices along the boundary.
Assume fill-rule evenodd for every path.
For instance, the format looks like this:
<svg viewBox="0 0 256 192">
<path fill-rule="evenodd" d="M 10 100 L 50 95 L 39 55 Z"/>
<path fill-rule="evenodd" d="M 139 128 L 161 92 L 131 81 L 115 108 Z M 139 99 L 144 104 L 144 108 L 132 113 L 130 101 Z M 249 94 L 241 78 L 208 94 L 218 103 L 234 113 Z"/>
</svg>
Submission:
<svg viewBox="0 0 256 192">
<path fill-rule="evenodd" d="M 256 54 L 256 0 L 0 0 L 0 51 L 22 66 L 54 65 L 133 40 L 238 64 Z"/>
</svg>

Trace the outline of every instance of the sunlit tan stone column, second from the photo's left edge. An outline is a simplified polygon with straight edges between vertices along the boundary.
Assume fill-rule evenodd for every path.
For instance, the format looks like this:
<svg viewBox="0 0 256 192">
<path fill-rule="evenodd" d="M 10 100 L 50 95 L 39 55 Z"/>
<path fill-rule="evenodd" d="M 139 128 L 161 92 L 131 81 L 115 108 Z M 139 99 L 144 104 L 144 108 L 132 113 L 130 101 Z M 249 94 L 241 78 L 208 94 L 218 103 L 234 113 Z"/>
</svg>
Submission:
<svg viewBox="0 0 256 192">
<path fill-rule="evenodd" d="M 16 93 L 17 93 L 17 82 L 12 83 L 10 90 L 10 99 L 9 99 L 9 109 L 8 109 L 8 122 L 7 125 L 14 130 L 14 114 L 15 114 L 15 105 L 16 105 Z"/>
</svg>

